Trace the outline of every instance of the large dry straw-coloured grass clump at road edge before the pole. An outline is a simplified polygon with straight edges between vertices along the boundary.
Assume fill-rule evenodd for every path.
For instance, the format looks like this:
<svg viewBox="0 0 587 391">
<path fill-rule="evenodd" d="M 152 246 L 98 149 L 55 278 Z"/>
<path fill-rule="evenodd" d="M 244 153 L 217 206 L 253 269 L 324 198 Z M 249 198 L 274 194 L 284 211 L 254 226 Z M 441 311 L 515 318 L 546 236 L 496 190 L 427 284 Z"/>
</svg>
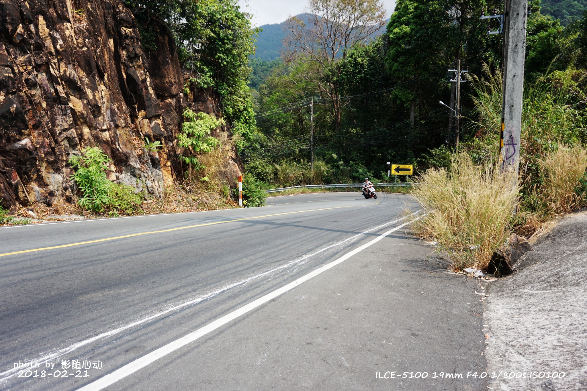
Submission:
<svg viewBox="0 0 587 391">
<path fill-rule="evenodd" d="M 452 270 L 485 269 L 509 234 L 518 192 L 514 174 L 475 166 L 460 154 L 449 170 L 429 169 L 419 182 L 412 194 L 427 214 L 414 222 L 416 233 L 447 251 Z"/>
</svg>

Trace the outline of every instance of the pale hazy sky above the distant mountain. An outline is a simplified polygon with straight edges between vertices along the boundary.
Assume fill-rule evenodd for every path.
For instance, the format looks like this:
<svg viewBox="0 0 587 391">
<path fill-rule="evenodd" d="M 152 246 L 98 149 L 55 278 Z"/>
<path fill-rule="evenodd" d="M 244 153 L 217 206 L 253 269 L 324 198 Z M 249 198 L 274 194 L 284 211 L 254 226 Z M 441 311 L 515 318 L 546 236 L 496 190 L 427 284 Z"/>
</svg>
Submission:
<svg viewBox="0 0 587 391">
<path fill-rule="evenodd" d="M 281 23 L 289 15 L 302 13 L 308 2 L 306 0 L 239 0 L 244 11 L 253 14 L 253 24 L 256 26 Z M 392 14 L 395 0 L 383 0 L 387 8 L 387 18 Z M 248 8 L 245 7 L 248 5 Z"/>
</svg>

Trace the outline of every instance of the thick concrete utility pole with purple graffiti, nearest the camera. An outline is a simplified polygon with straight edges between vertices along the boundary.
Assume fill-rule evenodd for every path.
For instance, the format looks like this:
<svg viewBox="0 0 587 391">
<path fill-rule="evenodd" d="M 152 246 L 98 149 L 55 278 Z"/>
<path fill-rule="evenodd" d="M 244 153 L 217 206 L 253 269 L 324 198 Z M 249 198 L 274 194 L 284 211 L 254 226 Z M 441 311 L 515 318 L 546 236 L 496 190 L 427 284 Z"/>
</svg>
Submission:
<svg viewBox="0 0 587 391">
<path fill-rule="evenodd" d="M 527 0 L 505 0 L 504 76 L 501 108 L 501 169 L 519 170 L 519 144 L 524 98 Z"/>
</svg>

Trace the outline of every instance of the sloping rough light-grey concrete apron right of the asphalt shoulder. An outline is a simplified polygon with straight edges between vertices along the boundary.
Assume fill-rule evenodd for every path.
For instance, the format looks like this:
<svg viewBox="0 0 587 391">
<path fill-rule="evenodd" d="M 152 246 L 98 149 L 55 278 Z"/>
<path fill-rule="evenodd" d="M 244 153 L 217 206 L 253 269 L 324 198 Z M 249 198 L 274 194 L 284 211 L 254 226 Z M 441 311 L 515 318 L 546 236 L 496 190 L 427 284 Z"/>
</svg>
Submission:
<svg viewBox="0 0 587 391">
<path fill-rule="evenodd" d="M 567 216 L 536 240 L 522 270 L 490 284 L 493 389 L 587 390 L 586 236 L 587 213 Z"/>
</svg>

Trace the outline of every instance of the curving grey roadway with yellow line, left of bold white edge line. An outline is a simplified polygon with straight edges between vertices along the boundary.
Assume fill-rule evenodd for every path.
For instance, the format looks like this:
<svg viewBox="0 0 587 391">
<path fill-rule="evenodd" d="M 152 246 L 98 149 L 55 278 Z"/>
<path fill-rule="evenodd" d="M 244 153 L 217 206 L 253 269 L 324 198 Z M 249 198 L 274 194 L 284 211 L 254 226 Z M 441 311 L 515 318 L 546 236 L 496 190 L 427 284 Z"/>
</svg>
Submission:
<svg viewBox="0 0 587 391">
<path fill-rule="evenodd" d="M 407 195 L 320 193 L 0 228 L 0 388 L 78 389 L 369 242 L 408 209 Z M 62 359 L 102 368 L 14 368 L 57 363 L 55 373 Z"/>
</svg>

